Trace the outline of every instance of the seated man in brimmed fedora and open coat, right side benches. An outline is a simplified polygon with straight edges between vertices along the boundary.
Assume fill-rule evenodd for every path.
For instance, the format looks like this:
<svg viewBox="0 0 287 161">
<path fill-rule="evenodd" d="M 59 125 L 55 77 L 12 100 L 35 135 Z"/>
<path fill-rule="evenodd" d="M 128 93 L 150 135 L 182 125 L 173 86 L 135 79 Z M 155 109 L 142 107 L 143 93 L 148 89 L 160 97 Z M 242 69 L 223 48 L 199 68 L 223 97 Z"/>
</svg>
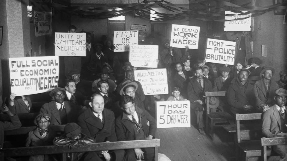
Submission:
<svg viewBox="0 0 287 161">
<path fill-rule="evenodd" d="M 271 80 L 275 69 L 264 67 L 260 72 L 263 79 L 254 84 L 254 94 L 256 97 L 256 106 L 260 111 L 265 112 L 270 106 L 274 105 L 275 90 L 279 88 L 278 84 Z"/>
</svg>

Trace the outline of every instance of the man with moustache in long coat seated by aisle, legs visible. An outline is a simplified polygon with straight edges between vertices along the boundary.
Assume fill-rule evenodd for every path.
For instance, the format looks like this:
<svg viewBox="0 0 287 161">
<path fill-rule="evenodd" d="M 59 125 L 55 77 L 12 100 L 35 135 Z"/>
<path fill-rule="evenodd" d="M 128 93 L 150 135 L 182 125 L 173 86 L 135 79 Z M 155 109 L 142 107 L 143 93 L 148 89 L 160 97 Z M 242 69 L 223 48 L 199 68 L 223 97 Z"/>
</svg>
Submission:
<svg viewBox="0 0 287 161">
<path fill-rule="evenodd" d="M 203 77 L 203 72 L 201 68 L 195 70 L 193 77 L 187 86 L 188 98 L 190 100 L 190 108 L 195 111 L 197 118 L 197 126 L 199 133 L 205 135 L 204 132 L 204 120 L 203 120 L 203 104 L 205 92 L 212 92 L 211 82 Z"/>
</svg>

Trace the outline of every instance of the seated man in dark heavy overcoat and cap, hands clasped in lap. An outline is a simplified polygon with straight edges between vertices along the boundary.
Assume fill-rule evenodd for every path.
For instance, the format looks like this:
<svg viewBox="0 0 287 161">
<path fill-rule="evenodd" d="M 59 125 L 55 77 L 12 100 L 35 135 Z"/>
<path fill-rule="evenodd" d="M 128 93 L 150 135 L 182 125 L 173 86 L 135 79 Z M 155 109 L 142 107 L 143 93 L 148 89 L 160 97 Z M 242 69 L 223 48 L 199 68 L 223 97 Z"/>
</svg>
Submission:
<svg viewBox="0 0 287 161">
<path fill-rule="evenodd" d="M 227 101 L 230 106 L 231 113 L 243 114 L 256 112 L 255 95 L 253 85 L 249 83 L 248 69 L 241 69 L 239 76 L 233 78 L 227 91 Z"/>
</svg>

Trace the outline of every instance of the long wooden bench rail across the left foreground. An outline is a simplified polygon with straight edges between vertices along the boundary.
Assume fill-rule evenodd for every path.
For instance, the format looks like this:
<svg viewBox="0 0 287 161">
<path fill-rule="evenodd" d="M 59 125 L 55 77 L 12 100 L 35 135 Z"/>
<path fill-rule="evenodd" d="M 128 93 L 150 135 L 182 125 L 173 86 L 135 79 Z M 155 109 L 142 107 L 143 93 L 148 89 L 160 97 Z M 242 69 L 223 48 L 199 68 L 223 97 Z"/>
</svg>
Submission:
<svg viewBox="0 0 287 161">
<path fill-rule="evenodd" d="M 160 147 L 160 139 L 151 140 L 132 140 L 132 141 L 118 141 L 118 142 L 104 142 L 104 143 L 91 143 L 85 146 L 75 145 L 72 149 L 65 146 L 34 146 L 34 147 L 21 147 L 21 148 L 4 148 L 0 149 L 0 160 L 4 157 L 19 157 L 30 155 L 43 155 L 43 154 L 63 154 L 74 152 L 87 152 L 87 151 L 102 151 L 102 150 L 117 150 L 117 149 L 131 149 L 131 148 L 155 148 L 155 161 L 158 160 L 158 147 Z M 65 161 L 63 155 L 63 161 Z"/>
</svg>

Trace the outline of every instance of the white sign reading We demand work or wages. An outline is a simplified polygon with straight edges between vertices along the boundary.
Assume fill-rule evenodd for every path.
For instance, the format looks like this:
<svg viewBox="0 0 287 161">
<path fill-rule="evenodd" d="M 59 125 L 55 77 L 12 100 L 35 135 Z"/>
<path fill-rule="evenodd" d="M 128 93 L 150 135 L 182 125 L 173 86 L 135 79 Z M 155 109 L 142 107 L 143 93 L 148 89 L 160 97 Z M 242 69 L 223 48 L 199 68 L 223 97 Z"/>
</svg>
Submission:
<svg viewBox="0 0 287 161">
<path fill-rule="evenodd" d="M 170 46 L 178 48 L 188 46 L 189 49 L 197 49 L 199 30 L 198 26 L 172 24 Z"/>
</svg>

